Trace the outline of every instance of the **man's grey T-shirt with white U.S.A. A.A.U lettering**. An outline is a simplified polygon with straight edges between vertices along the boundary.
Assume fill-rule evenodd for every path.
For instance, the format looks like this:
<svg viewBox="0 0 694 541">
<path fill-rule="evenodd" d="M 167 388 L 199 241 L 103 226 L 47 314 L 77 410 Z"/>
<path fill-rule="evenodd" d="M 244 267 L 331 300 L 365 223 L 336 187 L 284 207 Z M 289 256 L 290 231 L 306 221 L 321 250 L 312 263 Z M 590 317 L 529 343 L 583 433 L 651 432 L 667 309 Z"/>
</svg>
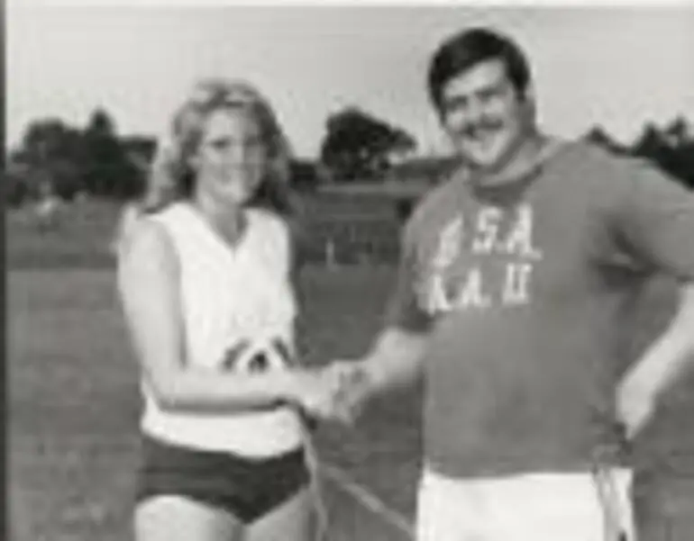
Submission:
<svg viewBox="0 0 694 541">
<path fill-rule="evenodd" d="M 619 463 L 616 384 L 653 272 L 694 279 L 694 196 L 561 144 L 497 187 L 455 176 L 406 225 L 389 323 L 427 331 L 425 460 L 451 476 Z"/>
</svg>

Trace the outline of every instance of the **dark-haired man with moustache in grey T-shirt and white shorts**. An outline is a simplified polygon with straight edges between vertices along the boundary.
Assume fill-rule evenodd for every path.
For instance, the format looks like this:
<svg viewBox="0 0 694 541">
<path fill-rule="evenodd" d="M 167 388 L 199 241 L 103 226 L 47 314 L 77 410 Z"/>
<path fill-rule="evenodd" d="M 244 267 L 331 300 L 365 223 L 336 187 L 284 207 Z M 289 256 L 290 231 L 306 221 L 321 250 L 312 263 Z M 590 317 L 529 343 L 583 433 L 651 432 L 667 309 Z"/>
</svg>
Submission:
<svg viewBox="0 0 694 541">
<path fill-rule="evenodd" d="M 461 167 L 406 224 L 388 324 L 342 405 L 424 375 L 418 541 L 631 540 L 626 443 L 694 351 L 694 197 L 543 135 L 497 32 L 443 43 L 429 91 Z M 655 272 L 680 280 L 680 310 L 632 362 L 630 302 Z"/>
</svg>

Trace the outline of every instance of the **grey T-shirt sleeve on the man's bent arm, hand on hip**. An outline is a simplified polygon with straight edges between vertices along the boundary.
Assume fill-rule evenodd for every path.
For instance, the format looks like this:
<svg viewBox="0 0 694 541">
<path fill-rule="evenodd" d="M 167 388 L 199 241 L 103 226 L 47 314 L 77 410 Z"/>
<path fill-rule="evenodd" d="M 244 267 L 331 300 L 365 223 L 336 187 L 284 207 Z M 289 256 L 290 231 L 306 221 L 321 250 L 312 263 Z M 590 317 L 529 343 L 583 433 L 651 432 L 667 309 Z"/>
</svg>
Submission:
<svg viewBox="0 0 694 541">
<path fill-rule="evenodd" d="M 651 271 L 694 280 L 694 193 L 641 160 L 613 179 L 619 184 L 612 224 L 630 257 Z"/>
</svg>

